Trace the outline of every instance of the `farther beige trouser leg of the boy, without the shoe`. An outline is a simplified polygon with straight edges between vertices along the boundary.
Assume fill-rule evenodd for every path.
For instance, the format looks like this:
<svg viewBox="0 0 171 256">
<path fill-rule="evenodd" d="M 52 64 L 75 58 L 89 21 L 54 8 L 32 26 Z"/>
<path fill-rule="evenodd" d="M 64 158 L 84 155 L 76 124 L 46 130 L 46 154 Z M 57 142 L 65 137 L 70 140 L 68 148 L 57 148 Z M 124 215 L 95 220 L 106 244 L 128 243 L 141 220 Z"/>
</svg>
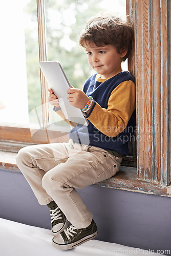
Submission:
<svg viewBox="0 0 171 256">
<path fill-rule="evenodd" d="M 17 154 L 17 166 L 41 205 L 53 201 L 42 187 L 42 177 L 48 170 L 67 161 L 69 147 L 69 143 L 33 145 L 22 148 Z"/>
</svg>

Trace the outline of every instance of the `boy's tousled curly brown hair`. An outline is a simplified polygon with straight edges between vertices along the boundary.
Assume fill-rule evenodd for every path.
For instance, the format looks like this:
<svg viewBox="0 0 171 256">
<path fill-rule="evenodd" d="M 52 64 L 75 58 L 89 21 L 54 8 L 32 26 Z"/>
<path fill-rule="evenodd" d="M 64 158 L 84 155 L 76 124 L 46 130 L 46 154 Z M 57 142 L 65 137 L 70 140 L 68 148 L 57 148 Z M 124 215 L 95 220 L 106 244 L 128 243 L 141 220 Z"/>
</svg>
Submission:
<svg viewBox="0 0 171 256">
<path fill-rule="evenodd" d="M 122 61 L 130 55 L 133 42 L 134 31 L 131 22 L 109 13 L 92 17 L 79 36 L 79 45 L 83 48 L 93 43 L 96 46 L 113 45 L 118 53 L 127 50 Z"/>
</svg>

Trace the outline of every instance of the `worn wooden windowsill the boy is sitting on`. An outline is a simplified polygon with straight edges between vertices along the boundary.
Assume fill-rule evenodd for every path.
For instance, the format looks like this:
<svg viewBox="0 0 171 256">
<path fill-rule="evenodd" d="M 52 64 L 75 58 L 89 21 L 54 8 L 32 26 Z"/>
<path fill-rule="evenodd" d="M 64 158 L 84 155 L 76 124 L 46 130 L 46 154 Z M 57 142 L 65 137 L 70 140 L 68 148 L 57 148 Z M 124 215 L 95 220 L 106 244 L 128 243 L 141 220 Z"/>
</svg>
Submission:
<svg viewBox="0 0 171 256">
<path fill-rule="evenodd" d="M 0 170 L 20 173 L 15 160 L 17 154 L 11 152 L 0 153 Z M 95 186 L 171 197 L 171 185 L 164 186 L 158 183 L 138 180 L 136 167 L 121 166 L 119 172 L 114 177 L 96 183 Z"/>
</svg>

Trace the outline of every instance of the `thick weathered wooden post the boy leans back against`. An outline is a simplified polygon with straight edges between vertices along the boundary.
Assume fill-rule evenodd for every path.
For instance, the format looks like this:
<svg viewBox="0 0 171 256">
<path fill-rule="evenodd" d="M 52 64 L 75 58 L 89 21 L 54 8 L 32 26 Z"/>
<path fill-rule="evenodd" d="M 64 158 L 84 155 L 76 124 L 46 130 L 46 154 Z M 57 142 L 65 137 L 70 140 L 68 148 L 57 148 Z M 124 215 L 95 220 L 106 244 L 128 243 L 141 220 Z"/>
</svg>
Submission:
<svg viewBox="0 0 171 256">
<path fill-rule="evenodd" d="M 130 0 L 135 31 L 137 178 L 170 184 L 170 1 Z"/>
</svg>

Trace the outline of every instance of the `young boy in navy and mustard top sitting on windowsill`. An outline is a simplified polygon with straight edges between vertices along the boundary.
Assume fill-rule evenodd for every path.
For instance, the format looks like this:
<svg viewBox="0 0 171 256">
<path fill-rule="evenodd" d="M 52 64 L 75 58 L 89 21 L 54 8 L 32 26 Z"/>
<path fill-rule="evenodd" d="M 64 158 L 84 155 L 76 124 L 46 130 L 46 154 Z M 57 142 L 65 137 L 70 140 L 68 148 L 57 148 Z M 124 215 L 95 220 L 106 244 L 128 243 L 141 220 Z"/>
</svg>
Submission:
<svg viewBox="0 0 171 256">
<path fill-rule="evenodd" d="M 114 176 L 128 153 L 128 138 L 136 125 L 135 83 L 122 71 L 121 62 L 130 54 L 132 41 L 129 22 L 112 15 L 92 18 L 79 44 L 96 74 L 83 91 L 67 91 L 70 104 L 82 110 L 89 125 L 77 124 L 68 143 L 28 146 L 17 155 L 17 165 L 38 202 L 50 208 L 52 244 L 58 249 L 71 249 L 97 236 L 92 212 L 76 188 Z M 62 116 L 56 95 L 49 92 L 54 111 Z"/>
</svg>

